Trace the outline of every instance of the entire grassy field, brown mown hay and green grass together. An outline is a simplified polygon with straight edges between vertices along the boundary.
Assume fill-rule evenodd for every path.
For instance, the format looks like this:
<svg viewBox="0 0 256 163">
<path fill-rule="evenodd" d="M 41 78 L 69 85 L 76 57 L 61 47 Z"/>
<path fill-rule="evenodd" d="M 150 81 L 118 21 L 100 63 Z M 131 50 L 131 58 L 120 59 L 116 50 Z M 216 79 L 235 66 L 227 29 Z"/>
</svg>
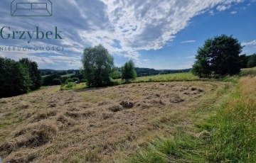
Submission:
<svg viewBox="0 0 256 163">
<path fill-rule="evenodd" d="M 4 162 L 255 162 L 256 77 L 200 80 L 166 74 L 0 99 L 0 156 Z"/>
</svg>

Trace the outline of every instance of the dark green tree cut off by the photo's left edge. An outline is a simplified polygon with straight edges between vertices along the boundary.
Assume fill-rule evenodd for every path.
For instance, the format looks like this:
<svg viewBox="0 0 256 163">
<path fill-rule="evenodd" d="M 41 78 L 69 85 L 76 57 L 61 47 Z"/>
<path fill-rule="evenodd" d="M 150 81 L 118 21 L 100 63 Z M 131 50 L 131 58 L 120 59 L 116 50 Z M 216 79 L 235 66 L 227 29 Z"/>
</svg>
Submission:
<svg viewBox="0 0 256 163">
<path fill-rule="evenodd" d="M 23 64 L 0 57 L 0 98 L 25 94 L 30 91 L 31 83 Z"/>
</svg>

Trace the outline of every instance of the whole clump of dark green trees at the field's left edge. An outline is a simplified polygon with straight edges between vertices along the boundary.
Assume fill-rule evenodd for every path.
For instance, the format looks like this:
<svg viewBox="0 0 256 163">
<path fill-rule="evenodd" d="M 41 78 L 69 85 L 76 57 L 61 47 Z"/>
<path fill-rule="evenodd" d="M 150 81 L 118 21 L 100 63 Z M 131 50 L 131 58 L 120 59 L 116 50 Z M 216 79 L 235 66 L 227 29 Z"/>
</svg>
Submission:
<svg viewBox="0 0 256 163">
<path fill-rule="evenodd" d="M 0 57 L 0 98 L 26 94 L 43 84 L 38 64 L 22 58 L 15 61 Z"/>
</svg>

